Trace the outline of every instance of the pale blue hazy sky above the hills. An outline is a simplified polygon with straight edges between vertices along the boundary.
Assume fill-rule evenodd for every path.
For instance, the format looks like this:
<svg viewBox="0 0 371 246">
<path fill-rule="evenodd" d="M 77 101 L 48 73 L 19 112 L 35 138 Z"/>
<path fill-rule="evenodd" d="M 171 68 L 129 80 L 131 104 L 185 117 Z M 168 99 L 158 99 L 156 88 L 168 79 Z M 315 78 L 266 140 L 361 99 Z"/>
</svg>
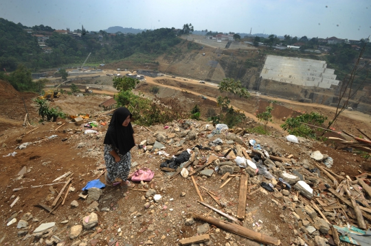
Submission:
<svg viewBox="0 0 371 246">
<path fill-rule="evenodd" d="M 99 31 L 112 26 L 357 39 L 371 34 L 370 0 L 0 0 L 0 17 L 23 25 Z"/>
</svg>

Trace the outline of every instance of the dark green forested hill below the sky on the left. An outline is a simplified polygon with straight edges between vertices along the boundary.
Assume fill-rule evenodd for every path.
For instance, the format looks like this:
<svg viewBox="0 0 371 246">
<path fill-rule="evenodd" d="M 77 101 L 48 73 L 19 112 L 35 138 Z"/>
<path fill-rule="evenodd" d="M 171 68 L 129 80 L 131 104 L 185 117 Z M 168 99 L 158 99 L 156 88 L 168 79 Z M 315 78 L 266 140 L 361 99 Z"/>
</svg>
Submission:
<svg viewBox="0 0 371 246">
<path fill-rule="evenodd" d="M 0 69 L 14 71 L 18 64 L 24 64 L 32 71 L 58 68 L 66 64 L 82 63 L 88 54 L 89 62 L 109 62 L 120 60 L 134 53 L 161 55 L 169 47 L 181 42 L 175 32 L 169 28 L 146 30 L 139 34 L 109 34 L 105 31 L 77 34 L 58 34 L 56 32 L 38 32 L 27 34 L 21 23 L 15 24 L 0 19 Z M 38 44 L 35 34 L 46 37 Z"/>
</svg>

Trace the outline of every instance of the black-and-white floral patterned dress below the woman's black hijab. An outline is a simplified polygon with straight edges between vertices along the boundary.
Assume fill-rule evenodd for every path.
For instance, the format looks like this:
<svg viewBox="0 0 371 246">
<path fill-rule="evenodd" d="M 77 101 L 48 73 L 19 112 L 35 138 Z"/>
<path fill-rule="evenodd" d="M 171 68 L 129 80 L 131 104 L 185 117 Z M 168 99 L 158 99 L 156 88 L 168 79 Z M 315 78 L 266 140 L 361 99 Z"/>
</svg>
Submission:
<svg viewBox="0 0 371 246">
<path fill-rule="evenodd" d="M 109 153 L 113 150 L 120 156 L 120 162 L 115 162 L 115 158 Z M 107 178 L 109 182 L 114 182 L 117 177 L 123 182 L 127 180 L 131 169 L 130 151 L 122 155 L 120 150 L 113 145 L 104 145 L 104 161 L 106 162 Z"/>
</svg>

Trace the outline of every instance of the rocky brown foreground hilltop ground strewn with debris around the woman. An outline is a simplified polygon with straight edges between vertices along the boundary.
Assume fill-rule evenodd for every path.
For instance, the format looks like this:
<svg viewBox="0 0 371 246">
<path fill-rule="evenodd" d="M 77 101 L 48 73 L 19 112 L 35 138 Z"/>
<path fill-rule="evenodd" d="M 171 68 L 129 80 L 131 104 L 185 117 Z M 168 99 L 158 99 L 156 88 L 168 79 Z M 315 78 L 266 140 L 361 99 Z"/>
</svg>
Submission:
<svg viewBox="0 0 371 246">
<path fill-rule="evenodd" d="M 85 120 L 95 121 L 98 127 L 89 130 L 96 133 L 87 134 L 84 124 L 50 122 L 8 134 L 0 151 L 2 245 L 179 245 L 182 238 L 204 234 L 210 235 L 210 240 L 193 245 L 260 245 L 245 236 L 192 219 L 192 214 L 202 214 L 228 220 L 199 204 L 201 197 L 205 204 L 234 218 L 238 206 L 242 206 L 243 227 L 279 240 L 281 245 L 334 245 L 332 225 L 358 227 L 354 210 L 340 206 L 341 201 L 326 188 L 336 190 L 339 184 L 335 185 L 323 171 L 313 170 L 318 169 L 316 164 L 325 167 L 322 159 L 327 156 L 313 156 L 315 160 L 311 155 L 319 150 L 332 156 L 334 164 L 330 170 L 343 178 L 349 175 L 352 180 L 368 162 L 353 153 L 304 139 L 296 144 L 282 137 L 244 134 L 238 130 L 209 137 L 214 127 L 203 121 L 174 121 L 153 127 L 135 125 L 135 139 L 145 149 L 132 149 L 132 171 L 151 169 L 155 172 L 153 180 L 137 183 L 129 190 L 114 186 L 83 192 L 82 188 L 91 180 L 104 182 L 102 139 L 104 123 L 109 119 L 110 116 L 102 114 Z M 22 133 L 25 135 L 17 143 L 16 136 Z M 260 145 L 260 153 L 265 150 L 270 156 L 262 153 L 264 164 L 258 173 L 251 172 L 249 165 L 245 169 L 236 164 L 238 156 L 246 160 L 256 153 L 260 156 L 259 151 L 251 150 L 250 140 Z M 25 149 L 15 149 L 25 143 L 30 143 Z M 170 179 L 173 172 L 160 168 L 162 162 L 187 149 L 192 160 L 188 173 L 210 163 L 193 175 L 201 197 L 189 175 Z M 14 156 L 3 157 L 14 151 L 17 152 Z M 65 177 L 56 180 L 65 173 Z M 240 182 L 244 175 L 249 176 L 247 199 L 240 204 Z M 341 182 L 340 176 L 336 179 Z M 264 183 L 271 191 L 263 188 L 267 187 Z M 292 188 L 285 188 L 284 183 Z M 358 195 L 358 184 L 353 183 L 352 195 L 368 205 L 368 200 Z M 344 190 L 339 193 L 344 194 Z M 155 201 L 155 195 L 161 198 Z M 52 212 L 36 207 L 37 204 Z"/>
</svg>

